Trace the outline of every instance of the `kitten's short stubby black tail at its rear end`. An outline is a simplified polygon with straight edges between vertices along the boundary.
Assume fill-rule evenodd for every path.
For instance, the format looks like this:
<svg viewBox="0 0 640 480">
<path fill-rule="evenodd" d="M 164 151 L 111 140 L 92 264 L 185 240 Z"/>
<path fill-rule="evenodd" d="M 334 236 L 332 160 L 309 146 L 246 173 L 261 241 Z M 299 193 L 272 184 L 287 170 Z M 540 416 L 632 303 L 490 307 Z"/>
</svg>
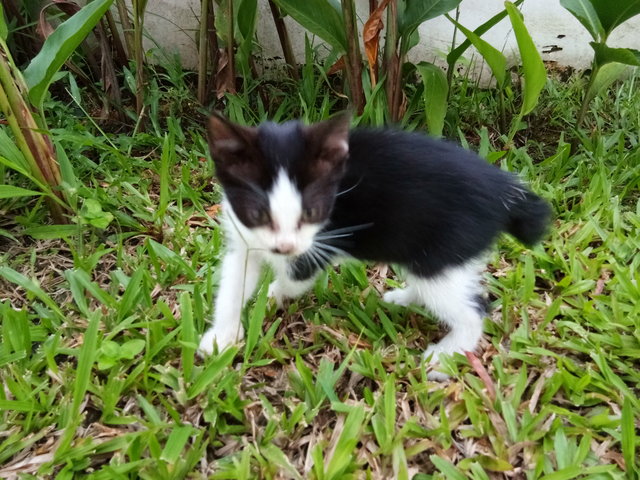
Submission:
<svg viewBox="0 0 640 480">
<path fill-rule="evenodd" d="M 514 184 L 503 196 L 502 204 L 509 212 L 507 232 L 528 246 L 542 239 L 551 220 L 551 207 L 545 200 Z"/>
</svg>

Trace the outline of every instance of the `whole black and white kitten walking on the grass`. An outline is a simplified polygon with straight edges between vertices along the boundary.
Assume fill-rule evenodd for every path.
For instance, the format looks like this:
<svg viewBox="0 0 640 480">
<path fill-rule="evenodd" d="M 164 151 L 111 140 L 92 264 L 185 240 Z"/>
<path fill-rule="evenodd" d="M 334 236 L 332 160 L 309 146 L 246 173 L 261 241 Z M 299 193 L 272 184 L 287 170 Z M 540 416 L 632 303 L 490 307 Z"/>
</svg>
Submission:
<svg viewBox="0 0 640 480">
<path fill-rule="evenodd" d="M 269 293 L 281 304 L 340 257 L 406 269 L 407 286 L 384 301 L 422 305 L 447 325 L 425 351 L 431 362 L 478 346 L 483 252 L 500 232 L 537 242 L 549 206 L 514 175 L 451 143 L 393 129 L 349 131 L 349 121 L 342 114 L 310 126 L 249 128 L 211 117 L 228 244 L 202 353 L 242 339 L 242 308 L 263 263 L 275 271 Z"/>
</svg>

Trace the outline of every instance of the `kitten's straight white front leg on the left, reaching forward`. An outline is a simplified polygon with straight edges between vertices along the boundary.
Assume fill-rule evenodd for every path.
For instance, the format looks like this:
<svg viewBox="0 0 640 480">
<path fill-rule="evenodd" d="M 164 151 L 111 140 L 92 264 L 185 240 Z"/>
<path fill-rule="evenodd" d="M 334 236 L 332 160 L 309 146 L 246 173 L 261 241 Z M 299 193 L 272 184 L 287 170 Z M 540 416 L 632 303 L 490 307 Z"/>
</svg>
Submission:
<svg viewBox="0 0 640 480">
<path fill-rule="evenodd" d="M 261 264 L 262 257 L 258 252 L 243 247 L 230 249 L 225 254 L 213 324 L 200 340 L 200 353 L 210 355 L 214 344 L 222 351 L 244 338 L 242 309 L 256 288 Z"/>
</svg>

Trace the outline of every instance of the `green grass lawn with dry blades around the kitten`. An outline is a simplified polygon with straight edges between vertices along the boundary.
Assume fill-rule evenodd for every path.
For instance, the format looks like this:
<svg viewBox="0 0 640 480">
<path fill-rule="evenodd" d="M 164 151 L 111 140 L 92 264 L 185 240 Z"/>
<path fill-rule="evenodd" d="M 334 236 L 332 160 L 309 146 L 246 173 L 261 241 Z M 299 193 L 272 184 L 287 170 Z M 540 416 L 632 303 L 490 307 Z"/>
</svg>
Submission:
<svg viewBox="0 0 640 480">
<path fill-rule="evenodd" d="M 263 283 L 247 341 L 195 356 L 219 281 L 220 190 L 169 77 L 152 85 L 149 133 L 102 134 L 73 103 L 52 110 L 80 226 L 3 200 L 0 478 L 638 478 L 637 77 L 594 102 L 574 154 L 562 137 L 582 81 L 549 82 L 500 159 L 556 219 L 543 245 L 505 237 L 493 251 L 482 348 L 447 362 L 444 384 L 419 363 L 442 330 L 380 301 L 398 282 L 382 265 L 330 270 L 286 312 Z M 322 81 L 307 67 L 278 118 L 325 115 Z M 233 117 L 266 116 L 257 95 L 228 101 Z M 497 158 L 500 132 L 482 128 L 491 92 L 458 107 L 461 138 Z"/>
</svg>

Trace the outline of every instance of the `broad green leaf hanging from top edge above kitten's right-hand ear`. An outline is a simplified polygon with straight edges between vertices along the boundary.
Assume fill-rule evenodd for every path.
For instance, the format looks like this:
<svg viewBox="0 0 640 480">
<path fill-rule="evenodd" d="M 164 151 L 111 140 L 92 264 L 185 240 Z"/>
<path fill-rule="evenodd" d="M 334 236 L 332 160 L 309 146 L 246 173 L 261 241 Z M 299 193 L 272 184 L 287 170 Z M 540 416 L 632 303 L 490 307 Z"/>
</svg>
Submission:
<svg viewBox="0 0 640 480">
<path fill-rule="evenodd" d="M 340 52 L 347 51 L 342 9 L 327 0 L 274 0 L 285 13 Z"/>
</svg>

